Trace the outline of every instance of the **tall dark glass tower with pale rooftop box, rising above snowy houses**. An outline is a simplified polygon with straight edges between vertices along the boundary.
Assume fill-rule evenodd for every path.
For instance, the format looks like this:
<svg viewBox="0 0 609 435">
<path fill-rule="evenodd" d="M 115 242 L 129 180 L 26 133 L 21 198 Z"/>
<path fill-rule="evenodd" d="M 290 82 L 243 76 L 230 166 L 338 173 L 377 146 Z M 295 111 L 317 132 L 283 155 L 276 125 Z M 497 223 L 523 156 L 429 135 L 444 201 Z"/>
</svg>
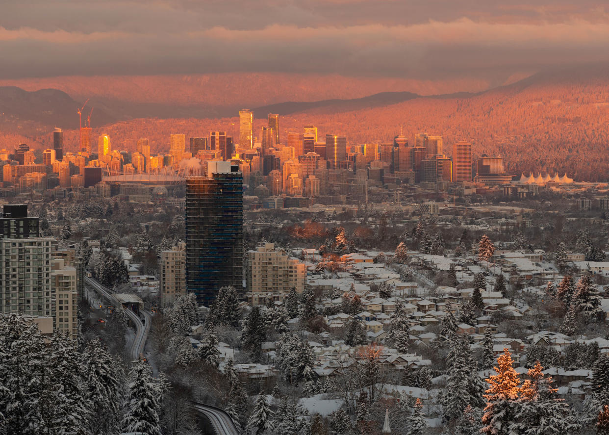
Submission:
<svg viewBox="0 0 609 435">
<path fill-rule="evenodd" d="M 242 289 L 243 174 L 207 164 L 207 176 L 186 179 L 186 289 L 209 306 L 221 287 Z"/>
</svg>

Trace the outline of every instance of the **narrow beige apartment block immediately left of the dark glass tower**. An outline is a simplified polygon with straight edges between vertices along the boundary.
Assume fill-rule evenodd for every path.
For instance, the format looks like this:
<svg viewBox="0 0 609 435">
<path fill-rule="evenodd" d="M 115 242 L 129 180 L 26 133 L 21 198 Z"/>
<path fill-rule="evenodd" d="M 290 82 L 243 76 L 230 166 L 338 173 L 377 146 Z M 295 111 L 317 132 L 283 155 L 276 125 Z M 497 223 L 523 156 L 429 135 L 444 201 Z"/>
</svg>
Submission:
<svg viewBox="0 0 609 435">
<path fill-rule="evenodd" d="M 161 306 L 171 306 L 176 297 L 186 294 L 186 244 L 161 252 L 159 266 Z"/>
</svg>

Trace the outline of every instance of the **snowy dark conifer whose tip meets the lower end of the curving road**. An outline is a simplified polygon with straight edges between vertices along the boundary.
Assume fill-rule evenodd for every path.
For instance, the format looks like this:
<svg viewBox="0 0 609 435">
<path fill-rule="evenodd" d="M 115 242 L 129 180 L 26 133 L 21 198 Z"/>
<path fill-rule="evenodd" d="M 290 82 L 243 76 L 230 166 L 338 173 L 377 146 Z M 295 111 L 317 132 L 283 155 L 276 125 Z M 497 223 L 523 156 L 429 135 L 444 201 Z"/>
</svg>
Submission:
<svg viewBox="0 0 609 435">
<path fill-rule="evenodd" d="M 157 398 L 158 386 L 152 378 L 150 367 L 144 361 L 138 361 L 129 373 L 125 416 L 122 419 L 125 432 L 161 435 Z"/>
</svg>

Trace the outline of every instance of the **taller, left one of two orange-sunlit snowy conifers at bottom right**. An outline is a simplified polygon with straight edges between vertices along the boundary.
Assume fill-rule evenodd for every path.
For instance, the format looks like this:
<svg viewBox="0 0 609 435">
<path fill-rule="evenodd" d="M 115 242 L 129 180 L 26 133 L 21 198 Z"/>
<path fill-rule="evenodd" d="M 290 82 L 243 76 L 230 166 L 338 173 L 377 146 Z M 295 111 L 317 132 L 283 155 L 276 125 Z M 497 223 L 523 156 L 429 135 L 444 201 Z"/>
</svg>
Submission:
<svg viewBox="0 0 609 435">
<path fill-rule="evenodd" d="M 507 435 L 509 425 L 513 421 L 515 401 L 518 398 L 520 379 L 512 367 L 512 354 L 504 349 L 504 353 L 497 359 L 496 375 L 487 379 L 490 387 L 484 398 L 487 406 L 484 408 L 482 423 L 486 426 L 481 433 L 487 435 Z"/>
</svg>

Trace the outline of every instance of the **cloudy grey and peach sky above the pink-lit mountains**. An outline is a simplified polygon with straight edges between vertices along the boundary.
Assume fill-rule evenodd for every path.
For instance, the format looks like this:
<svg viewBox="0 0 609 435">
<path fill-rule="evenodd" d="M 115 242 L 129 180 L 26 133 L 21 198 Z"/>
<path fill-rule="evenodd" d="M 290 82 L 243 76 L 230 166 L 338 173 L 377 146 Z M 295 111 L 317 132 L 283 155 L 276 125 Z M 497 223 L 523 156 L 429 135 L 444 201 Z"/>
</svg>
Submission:
<svg viewBox="0 0 609 435">
<path fill-rule="evenodd" d="M 609 4 L 5 0 L 0 58 L 0 79 L 314 72 L 504 80 L 609 62 Z"/>
</svg>

